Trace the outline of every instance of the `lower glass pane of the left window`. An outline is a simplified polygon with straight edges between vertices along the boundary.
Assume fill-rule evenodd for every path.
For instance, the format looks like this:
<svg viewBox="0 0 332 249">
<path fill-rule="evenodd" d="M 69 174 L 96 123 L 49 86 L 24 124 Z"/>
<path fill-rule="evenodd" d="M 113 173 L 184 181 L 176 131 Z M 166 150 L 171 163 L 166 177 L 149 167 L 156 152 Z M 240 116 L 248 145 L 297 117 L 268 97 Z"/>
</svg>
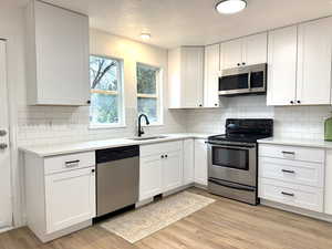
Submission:
<svg viewBox="0 0 332 249">
<path fill-rule="evenodd" d="M 90 107 L 90 123 L 112 124 L 118 123 L 117 95 L 92 93 Z"/>
</svg>

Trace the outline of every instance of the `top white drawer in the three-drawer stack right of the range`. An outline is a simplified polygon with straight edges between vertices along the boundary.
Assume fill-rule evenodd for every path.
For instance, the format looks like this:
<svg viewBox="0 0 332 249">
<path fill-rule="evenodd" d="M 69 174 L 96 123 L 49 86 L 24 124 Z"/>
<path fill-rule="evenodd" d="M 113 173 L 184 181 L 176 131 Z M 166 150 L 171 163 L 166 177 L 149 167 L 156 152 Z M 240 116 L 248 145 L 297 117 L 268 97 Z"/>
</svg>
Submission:
<svg viewBox="0 0 332 249">
<path fill-rule="evenodd" d="M 325 152 L 322 148 L 294 147 L 283 145 L 259 145 L 259 156 L 324 163 Z"/>
</svg>

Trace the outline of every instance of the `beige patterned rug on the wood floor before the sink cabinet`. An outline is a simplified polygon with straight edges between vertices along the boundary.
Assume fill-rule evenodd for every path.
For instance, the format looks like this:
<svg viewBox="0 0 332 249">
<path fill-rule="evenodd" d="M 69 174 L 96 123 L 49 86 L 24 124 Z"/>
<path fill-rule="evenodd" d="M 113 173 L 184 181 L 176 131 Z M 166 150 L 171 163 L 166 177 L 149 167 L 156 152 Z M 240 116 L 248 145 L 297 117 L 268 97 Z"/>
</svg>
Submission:
<svg viewBox="0 0 332 249">
<path fill-rule="evenodd" d="M 205 196 L 183 191 L 101 224 L 106 230 L 134 243 L 212 204 Z"/>
</svg>

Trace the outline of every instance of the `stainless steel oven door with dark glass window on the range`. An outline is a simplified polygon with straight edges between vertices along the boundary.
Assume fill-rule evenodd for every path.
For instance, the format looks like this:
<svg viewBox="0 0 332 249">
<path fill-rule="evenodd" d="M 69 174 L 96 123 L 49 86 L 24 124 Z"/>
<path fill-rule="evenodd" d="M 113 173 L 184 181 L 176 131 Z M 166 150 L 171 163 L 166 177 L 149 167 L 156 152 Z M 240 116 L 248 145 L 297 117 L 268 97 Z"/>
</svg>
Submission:
<svg viewBox="0 0 332 249">
<path fill-rule="evenodd" d="M 257 186 L 256 144 L 208 144 L 208 177 Z"/>
</svg>

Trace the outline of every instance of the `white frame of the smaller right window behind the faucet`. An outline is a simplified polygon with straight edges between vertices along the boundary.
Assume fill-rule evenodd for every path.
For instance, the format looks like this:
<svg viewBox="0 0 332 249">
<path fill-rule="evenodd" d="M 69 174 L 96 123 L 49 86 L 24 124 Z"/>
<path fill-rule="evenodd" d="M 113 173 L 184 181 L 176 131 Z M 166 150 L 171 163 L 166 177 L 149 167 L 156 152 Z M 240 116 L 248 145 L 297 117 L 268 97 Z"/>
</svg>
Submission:
<svg viewBox="0 0 332 249">
<path fill-rule="evenodd" d="M 137 68 L 138 65 L 143 65 L 146 68 L 152 68 L 157 71 L 156 75 L 156 93 L 155 94 L 146 94 L 146 93 L 138 93 L 138 79 L 137 79 Z M 157 103 L 157 122 L 149 122 L 149 125 L 146 125 L 145 123 L 142 124 L 142 126 L 162 126 L 164 125 L 164 100 L 163 100 L 163 68 L 159 65 L 152 65 L 144 62 L 136 62 L 136 107 L 138 113 L 138 97 L 146 97 L 146 98 L 156 98 Z"/>
</svg>

